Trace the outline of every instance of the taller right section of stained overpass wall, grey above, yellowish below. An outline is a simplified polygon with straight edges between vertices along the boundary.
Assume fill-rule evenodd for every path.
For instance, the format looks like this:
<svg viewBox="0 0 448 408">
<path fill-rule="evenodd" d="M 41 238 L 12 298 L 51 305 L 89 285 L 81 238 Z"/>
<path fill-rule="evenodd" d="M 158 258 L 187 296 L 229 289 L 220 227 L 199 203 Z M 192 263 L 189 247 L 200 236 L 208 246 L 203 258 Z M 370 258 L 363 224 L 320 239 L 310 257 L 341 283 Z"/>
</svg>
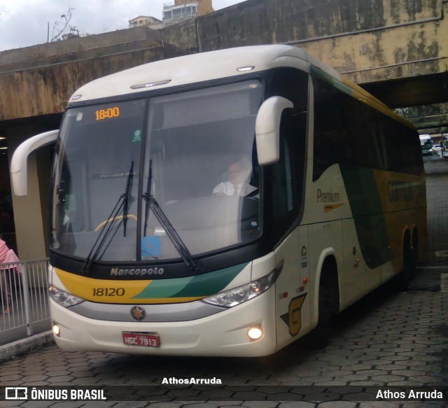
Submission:
<svg viewBox="0 0 448 408">
<path fill-rule="evenodd" d="M 447 13 L 442 0 L 247 0 L 162 31 L 200 52 L 290 43 L 368 83 L 446 71 Z"/>
</svg>

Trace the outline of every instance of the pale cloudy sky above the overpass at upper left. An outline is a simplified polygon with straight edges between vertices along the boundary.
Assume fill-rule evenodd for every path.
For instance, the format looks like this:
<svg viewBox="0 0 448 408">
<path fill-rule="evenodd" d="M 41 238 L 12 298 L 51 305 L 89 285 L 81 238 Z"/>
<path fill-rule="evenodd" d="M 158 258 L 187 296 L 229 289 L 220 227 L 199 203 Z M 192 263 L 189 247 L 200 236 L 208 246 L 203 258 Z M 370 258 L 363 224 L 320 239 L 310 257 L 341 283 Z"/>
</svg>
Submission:
<svg viewBox="0 0 448 408">
<path fill-rule="evenodd" d="M 213 7 L 221 10 L 242 1 L 213 0 Z M 0 0 L 0 51 L 46 43 L 48 31 L 51 38 L 54 27 L 64 27 L 61 15 L 68 16 L 69 9 L 69 26 L 79 34 L 102 34 L 127 29 L 128 21 L 139 15 L 162 20 L 167 3 L 174 0 Z"/>
</svg>

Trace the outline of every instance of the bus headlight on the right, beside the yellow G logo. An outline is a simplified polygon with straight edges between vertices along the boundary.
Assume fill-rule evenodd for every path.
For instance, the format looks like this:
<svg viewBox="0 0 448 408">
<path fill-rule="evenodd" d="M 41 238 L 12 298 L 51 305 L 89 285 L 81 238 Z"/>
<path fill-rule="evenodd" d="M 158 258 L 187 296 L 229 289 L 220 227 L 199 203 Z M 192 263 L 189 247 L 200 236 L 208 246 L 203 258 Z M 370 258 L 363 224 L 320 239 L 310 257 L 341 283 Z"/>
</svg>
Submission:
<svg viewBox="0 0 448 408">
<path fill-rule="evenodd" d="M 215 304 L 216 306 L 234 307 L 266 292 L 274 284 L 276 276 L 277 271 L 274 269 L 256 281 L 246 283 L 246 285 L 238 286 L 237 288 L 224 290 L 216 295 L 205 297 L 202 300 L 210 304 Z"/>
</svg>

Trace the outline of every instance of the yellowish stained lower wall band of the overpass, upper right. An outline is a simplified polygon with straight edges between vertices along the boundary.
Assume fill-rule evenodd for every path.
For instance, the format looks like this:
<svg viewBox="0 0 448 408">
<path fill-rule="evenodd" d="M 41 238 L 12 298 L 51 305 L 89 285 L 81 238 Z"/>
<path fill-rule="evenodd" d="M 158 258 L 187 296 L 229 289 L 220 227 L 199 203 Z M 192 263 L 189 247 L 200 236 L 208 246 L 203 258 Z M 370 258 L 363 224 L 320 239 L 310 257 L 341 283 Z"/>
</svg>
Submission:
<svg viewBox="0 0 448 408">
<path fill-rule="evenodd" d="M 371 2 L 375 3 L 380 2 Z M 447 3 L 384 0 L 381 5 L 377 13 L 382 17 L 372 20 L 370 26 L 363 24 L 353 32 L 294 43 L 356 83 L 446 71 L 448 23 L 444 12 L 448 10 Z M 365 22 L 372 17 L 372 13 L 360 10 L 357 15 Z"/>
</svg>

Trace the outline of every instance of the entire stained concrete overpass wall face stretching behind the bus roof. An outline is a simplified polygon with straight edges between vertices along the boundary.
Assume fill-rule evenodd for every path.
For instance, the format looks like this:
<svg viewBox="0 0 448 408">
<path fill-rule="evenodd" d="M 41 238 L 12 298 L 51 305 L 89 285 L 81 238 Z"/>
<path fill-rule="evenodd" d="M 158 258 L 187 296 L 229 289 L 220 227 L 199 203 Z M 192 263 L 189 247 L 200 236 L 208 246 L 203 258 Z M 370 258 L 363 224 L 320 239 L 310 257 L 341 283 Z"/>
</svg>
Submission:
<svg viewBox="0 0 448 408">
<path fill-rule="evenodd" d="M 0 52 L 0 121 L 60 113 L 77 87 L 120 69 L 241 45 L 297 45 L 360 84 L 444 73 L 447 12 L 442 0 L 246 0 L 160 31 L 8 50 Z"/>
</svg>

